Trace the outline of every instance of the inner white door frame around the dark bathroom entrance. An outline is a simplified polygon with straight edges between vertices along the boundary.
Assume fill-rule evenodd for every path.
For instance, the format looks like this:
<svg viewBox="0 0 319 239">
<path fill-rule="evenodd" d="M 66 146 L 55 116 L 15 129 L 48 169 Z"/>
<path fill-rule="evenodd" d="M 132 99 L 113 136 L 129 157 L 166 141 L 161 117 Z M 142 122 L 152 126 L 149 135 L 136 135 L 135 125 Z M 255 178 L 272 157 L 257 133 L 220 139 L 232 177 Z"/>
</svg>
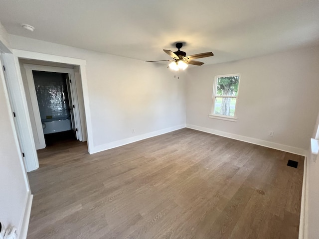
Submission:
<svg viewBox="0 0 319 239">
<path fill-rule="evenodd" d="M 83 141 L 83 135 L 82 135 L 82 127 L 81 127 L 81 120 L 80 120 L 80 108 L 78 103 L 78 96 L 77 96 L 77 90 L 76 90 L 76 81 L 75 81 L 75 75 L 74 70 L 72 68 L 62 68 L 62 67 L 53 67 L 53 66 L 43 66 L 43 65 L 32 65 L 32 64 L 23 64 L 23 67 L 25 69 L 28 88 L 30 92 L 30 98 L 31 98 L 31 104 L 32 104 L 32 112 L 35 119 L 35 126 L 37 131 L 38 140 L 35 140 L 36 149 L 45 148 L 45 140 L 44 140 L 44 134 L 43 134 L 43 128 L 42 128 L 42 122 L 40 117 L 40 111 L 39 111 L 39 105 L 36 97 L 35 92 L 35 85 L 34 85 L 34 79 L 33 79 L 33 73 L 32 71 L 45 71 L 45 72 L 56 72 L 56 73 L 65 73 L 69 75 L 69 79 L 71 79 L 71 82 L 68 82 L 71 90 L 71 99 L 74 105 L 74 122 L 75 122 L 75 128 L 78 130 L 75 131 L 76 133 L 76 139 Z M 72 107 L 72 106 L 70 106 Z M 37 143 L 37 141 L 39 143 Z"/>
</svg>

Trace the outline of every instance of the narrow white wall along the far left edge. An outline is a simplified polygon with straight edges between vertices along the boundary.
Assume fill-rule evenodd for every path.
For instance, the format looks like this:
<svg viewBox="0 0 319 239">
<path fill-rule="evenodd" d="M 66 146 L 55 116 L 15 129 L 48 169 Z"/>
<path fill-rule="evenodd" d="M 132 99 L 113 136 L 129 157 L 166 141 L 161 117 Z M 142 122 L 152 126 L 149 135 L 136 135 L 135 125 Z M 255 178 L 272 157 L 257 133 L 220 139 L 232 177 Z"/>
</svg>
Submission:
<svg viewBox="0 0 319 239">
<path fill-rule="evenodd" d="M 8 47 L 8 42 L 3 39 L 7 39 L 7 36 L 0 23 L 0 42 Z M 0 221 L 5 227 L 8 225 L 17 227 L 20 232 L 22 224 L 26 223 L 23 221 L 24 217 L 28 217 L 25 211 L 29 186 L 17 145 L 2 67 L 0 70 L 0 112 Z"/>
</svg>

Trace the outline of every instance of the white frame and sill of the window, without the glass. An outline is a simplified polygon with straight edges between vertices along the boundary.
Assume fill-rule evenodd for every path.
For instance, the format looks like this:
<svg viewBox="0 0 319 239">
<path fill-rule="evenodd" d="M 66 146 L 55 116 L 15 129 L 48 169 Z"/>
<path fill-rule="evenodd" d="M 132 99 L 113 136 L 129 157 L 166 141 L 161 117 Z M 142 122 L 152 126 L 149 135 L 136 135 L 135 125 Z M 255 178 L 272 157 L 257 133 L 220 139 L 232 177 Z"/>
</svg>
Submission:
<svg viewBox="0 0 319 239">
<path fill-rule="evenodd" d="M 217 93 L 217 80 L 218 80 L 218 78 L 220 78 L 220 77 L 230 77 L 230 76 L 239 76 L 237 96 L 217 96 L 216 93 Z M 211 113 L 209 115 L 209 118 L 212 118 L 212 119 L 223 119 L 223 120 L 237 122 L 237 103 L 238 103 L 240 81 L 241 81 L 241 74 L 240 73 L 215 76 L 214 84 L 213 84 L 212 108 L 211 108 Z M 223 116 L 223 115 L 214 114 L 216 97 L 217 98 L 236 98 L 234 116 Z"/>
</svg>

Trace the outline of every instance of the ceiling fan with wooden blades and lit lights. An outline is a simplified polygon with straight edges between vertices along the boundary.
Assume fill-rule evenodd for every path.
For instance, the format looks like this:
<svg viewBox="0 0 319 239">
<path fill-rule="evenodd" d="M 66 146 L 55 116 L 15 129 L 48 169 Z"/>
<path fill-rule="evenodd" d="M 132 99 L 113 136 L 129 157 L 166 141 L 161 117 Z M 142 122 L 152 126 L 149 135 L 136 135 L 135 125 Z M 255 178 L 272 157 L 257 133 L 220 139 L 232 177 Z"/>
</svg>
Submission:
<svg viewBox="0 0 319 239">
<path fill-rule="evenodd" d="M 180 48 L 183 46 L 183 43 L 176 43 L 176 48 L 178 49 L 175 52 L 172 52 L 171 50 L 164 50 L 163 51 L 169 55 L 173 60 L 160 60 L 160 61 L 170 61 L 168 67 L 178 71 L 179 69 L 185 70 L 187 68 L 187 64 L 201 66 L 204 64 L 204 62 L 201 61 L 194 61 L 193 59 L 197 58 L 204 58 L 213 56 L 214 54 L 212 52 L 205 52 L 205 53 L 199 53 L 195 55 L 186 56 L 186 52 L 181 51 Z M 146 61 L 146 62 L 158 62 L 158 61 Z"/>
</svg>

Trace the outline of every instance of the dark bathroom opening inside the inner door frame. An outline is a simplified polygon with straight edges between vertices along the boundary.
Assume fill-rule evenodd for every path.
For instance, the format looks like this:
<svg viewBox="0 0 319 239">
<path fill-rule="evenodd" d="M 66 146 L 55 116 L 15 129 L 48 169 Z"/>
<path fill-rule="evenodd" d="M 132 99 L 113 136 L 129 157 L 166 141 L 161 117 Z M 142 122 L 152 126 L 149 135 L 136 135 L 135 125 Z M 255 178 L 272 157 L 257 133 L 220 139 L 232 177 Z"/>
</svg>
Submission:
<svg viewBox="0 0 319 239">
<path fill-rule="evenodd" d="M 73 95 L 67 73 L 32 71 L 45 145 L 77 140 Z"/>
</svg>

